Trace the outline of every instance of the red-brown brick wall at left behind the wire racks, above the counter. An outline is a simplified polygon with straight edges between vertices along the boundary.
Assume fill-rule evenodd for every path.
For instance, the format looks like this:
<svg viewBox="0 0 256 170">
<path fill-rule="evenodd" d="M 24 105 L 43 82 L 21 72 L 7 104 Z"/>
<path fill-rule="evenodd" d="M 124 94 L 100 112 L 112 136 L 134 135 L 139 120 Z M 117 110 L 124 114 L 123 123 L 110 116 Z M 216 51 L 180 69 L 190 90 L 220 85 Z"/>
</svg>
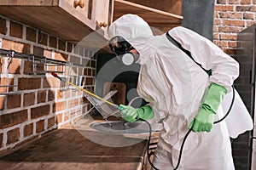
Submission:
<svg viewBox="0 0 256 170">
<path fill-rule="evenodd" d="M 18 53 L 34 54 L 49 59 L 76 62 L 86 65 L 73 66 L 71 73 L 84 76 L 85 88 L 94 90 L 96 59 L 92 52 L 31 26 L 9 20 L 0 15 L 0 48 Z M 81 54 L 81 51 L 83 53 Z M 75 58 L 75 59 L 73 59 Z M 73 61 L 74 60 L 74 61 Z M 39 74 L 33 70 L 32 61 L 0 56 L 0 151 L 79 119 L 90 104 L 81 91 L 60 88 L 60 82 L 49 73 Z M 47 66 L 49 71 L 65 71 L 70 67 Z M 45 71 L 44 65 L 37 65 L 37 71 Z M 5 85 L 14 87 L 5 87 Z M 4 95 L 3 95 L 4 94 Z"/>
</svg>

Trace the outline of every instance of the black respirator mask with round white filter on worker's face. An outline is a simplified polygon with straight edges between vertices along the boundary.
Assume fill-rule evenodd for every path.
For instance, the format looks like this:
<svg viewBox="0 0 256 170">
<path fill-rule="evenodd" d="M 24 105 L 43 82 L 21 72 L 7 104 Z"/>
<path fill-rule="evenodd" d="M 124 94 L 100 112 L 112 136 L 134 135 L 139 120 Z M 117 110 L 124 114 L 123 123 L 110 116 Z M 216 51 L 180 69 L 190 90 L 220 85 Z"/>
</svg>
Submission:
<svg viewBox="0 0 256 170">
<path fill-rule="evenodd" d="M 115 54 L 117 59 L 122 61 L 124 65 L 131 65 L 138 58 L 138 54 L 131 53 L 131 50 L 135 48 L 133 48 L 123 37 L 116 36 L 111 38 L 108 45 L 113 54 Z"/>
</svg>

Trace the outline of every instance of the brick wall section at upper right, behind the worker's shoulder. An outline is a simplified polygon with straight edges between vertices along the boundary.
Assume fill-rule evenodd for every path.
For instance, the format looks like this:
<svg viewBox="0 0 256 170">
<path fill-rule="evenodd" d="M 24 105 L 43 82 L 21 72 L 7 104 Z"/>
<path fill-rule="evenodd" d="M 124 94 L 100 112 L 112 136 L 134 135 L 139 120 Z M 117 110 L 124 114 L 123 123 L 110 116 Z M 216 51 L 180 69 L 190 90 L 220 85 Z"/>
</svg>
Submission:
<svg viewBox="0 0 256 170">
<path fill-rule="evenodd" d="M 213 42 L 235 56 L 237 33 L 256 22 L 256 0 L 216 0 Z"/>
</svg>

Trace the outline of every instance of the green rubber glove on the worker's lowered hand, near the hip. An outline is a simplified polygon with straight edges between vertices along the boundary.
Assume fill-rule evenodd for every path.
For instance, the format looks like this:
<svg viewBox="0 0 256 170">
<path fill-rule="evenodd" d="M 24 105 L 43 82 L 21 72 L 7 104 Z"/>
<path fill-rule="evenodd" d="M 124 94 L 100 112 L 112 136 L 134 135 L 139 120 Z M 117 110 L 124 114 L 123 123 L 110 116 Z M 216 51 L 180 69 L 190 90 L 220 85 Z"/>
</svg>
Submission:
<svg viewBox="0 0 256 170">
<path fill-rule="evenodd" d="M 193 132 L 210 132 L 218 106 L 225 94 L 227 94 L 226 88 L 212 83 L 194 120 L 189 124 L 189 129 L 192 128 Z"/>
</svg>

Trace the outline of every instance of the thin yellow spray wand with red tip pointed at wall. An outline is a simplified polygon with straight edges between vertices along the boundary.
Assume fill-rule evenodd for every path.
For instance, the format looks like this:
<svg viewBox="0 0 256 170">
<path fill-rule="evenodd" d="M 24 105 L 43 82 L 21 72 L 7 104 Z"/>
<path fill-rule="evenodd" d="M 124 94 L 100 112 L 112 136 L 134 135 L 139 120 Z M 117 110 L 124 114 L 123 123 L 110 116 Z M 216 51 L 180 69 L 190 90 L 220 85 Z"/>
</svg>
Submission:
<svg viewBox="0 0 256 170">
<path fill-rule="evenodd" d="M 92 93 L 89 92 L 88 90 L 85 90 L 84 88 L 81 88 L 81 87 L 79 87 L 79 86 L 73 84 L 72 82 L 68 82 L 66 78 L 58 76 L 55 72 L 52 72 L 51 75 L 52 75 L 53 77 L 58 78 L 61 82 L 66 82 L 67 84 L 70 84 L 70 85 L 72 85 L 72 86 L 75 87 L 75 88 L 79 88 L 80 90 L 82 90 L 82 91 L 85 92 L 86 94 L 90 94 L 91 96 L 93 96 L 93 97 L 95 97 L 95 98 L 97 98 L 97 99 L 101 99 L 102 101 L 108 103 L 108 105 L 112 105 L 113 107 L 117 108 L 119 111 L 123 111 L 123 110 L 124 110 L 124 108 L 123 108 L 122 106 L 113 104 L 113 103 L 111 103 L 110 101 L 108 101 L 107 99 L 102 99 L 100 96 L 97 96 L 96 94 L 92 94 Z"/>
</svg>

